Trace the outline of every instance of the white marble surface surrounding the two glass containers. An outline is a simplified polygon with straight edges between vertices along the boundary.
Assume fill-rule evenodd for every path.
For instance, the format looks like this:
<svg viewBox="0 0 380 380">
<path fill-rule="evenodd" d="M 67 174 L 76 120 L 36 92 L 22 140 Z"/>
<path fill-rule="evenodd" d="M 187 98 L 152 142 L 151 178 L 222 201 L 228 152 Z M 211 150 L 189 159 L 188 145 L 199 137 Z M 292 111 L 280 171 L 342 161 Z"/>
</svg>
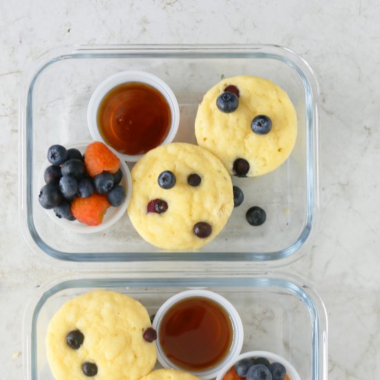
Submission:
<svg viewBox="0 0 380 380">
<path fill-rule="evenodd" d="M 249 5 L 248 5 L 249 4 Z M 323 1 L 0 2 L 0 368 L 21 379 L 28 298 L 59 273 L 32 254 L 17 221 L 21 72 L 64 44 L 278 44 L 301 54 L 321 86 L 321 228 L 285 268 L 314 285 L 329 318 L 329 379 L 380 371 L 380 6 Z"/>
</svg>

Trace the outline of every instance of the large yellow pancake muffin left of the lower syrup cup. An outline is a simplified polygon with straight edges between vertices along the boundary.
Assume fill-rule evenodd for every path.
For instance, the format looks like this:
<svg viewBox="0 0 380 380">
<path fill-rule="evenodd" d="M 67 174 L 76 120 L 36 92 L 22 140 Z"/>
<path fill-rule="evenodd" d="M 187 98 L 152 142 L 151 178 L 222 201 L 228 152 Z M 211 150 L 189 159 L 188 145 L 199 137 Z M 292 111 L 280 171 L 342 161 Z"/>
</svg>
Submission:
<svg viewBox="0 0 380 380">
<path fill-rule="evenodd" d="M 137 380 L 153 370 L 154 339 L 140 302 L 94 291 L 66 302 L 53 316 L 46 353 L 57 380 Z"/>
</svg>

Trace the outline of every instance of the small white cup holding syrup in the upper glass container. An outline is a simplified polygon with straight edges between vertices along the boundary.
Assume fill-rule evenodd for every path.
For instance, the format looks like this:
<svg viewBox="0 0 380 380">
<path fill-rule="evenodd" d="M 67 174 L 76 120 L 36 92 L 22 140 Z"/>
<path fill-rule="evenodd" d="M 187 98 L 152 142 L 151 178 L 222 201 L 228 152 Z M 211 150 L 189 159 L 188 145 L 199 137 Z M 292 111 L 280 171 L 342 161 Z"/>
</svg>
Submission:
<svg viewBox="0 0 380 380">
<path fill-rule="evenodd" d="M 122 71 L 121 73 L 117 73 L 115 75 L 111 75 L 111 77 L 106 78 L 93 92 L 91 96 L 90 102 L 88 103 L 87 108 L 87 122 L 88 129 L 90 130 L 91 136 L 96 141 L 102 141 L 104 144 L 107 144 L 104 141 L 102 135 L 99 133 L 99 128 L 97 125 L 97 110 L 99 108 L 100 103 L 104 96 L 111 91 L 116 86 L 120 84 L 128 83 L 128 82 L 140 82 L 144 84 L 149 84 L 156 88 L 162 95 L 164 95 L 165 99 L 169 104 L 170 112 L 171 112 L 171 125 L 169 128 L 169 132 L 167 137 L 165 137 L 164 141 L 161 145 L 169 144 L 172 142 L 175 134 L 178 131 L 178 124 L 180 124 L 180 107 L 178 106 L 177 99 L 171 88 L 159 77 L 151 73 L 146 73 L 144 71 Z M 108 145 L 108 144 L 107 144 Z M 119 156 L 127 162 L 136 162 L 142 158 L 141 155 L 128 155 L 123 153 L 118 153 Z"/>
</svg>

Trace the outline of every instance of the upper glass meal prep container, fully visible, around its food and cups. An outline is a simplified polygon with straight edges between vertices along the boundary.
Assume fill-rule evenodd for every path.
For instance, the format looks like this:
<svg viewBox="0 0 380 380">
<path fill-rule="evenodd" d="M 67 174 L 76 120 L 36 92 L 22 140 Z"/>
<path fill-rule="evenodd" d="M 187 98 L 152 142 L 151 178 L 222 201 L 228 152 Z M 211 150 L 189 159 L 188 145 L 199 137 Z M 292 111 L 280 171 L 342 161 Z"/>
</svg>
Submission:
<svg viewBox="0 0 380 380">
<path fill-rule="evenodd" d="M 222 232 L 198 251 L 165 251 L 146 243 L 128 214 L 97 234 L 73 234 L 48 218 L 38 202 L 37 178 L 53 144 L 91 140 L 88 101 L 106 77 L 143 70 L 166 82 L 178 99 L 180 126 L 174 141 L 196 143 L 194 120 L 203 95 L 223 77 L 272 79 L 292 100 L 298 137 L 289 159 L 272 173 L 233 178 L 245 193 Z M 318 86 L 307 63 L 278 46 L 62 47 L 42 56 L 26 74 L 21 97 L 20 202 L 23 236 L 32 251 L 61 266 L 86 269 L 153 261 L 197 266 L 234 262 L 278 267 L 307 249 L 316 226 L 318 194 Z M 131 168 L 133 164 L 129 163 Z M 245 212 L 265 209 L 267 220 L 251 227 Z"/>
</svg>

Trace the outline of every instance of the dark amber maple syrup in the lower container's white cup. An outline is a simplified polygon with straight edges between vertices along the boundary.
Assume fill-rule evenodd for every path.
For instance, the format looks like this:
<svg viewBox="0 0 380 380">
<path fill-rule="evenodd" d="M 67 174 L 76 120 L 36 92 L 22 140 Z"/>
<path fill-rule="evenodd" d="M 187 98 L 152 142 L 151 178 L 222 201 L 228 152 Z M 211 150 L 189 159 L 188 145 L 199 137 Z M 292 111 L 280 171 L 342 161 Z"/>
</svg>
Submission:
<svg viewBox="0 0 380 380">
<path fill-rule="evenodd" d="M 167 358 L 184 370 L 207 370 L 228 354 L 233 327 L 215 301 L 194 296 L 175 303 L 162 316 L 158 339 Z"/>
</svg>

